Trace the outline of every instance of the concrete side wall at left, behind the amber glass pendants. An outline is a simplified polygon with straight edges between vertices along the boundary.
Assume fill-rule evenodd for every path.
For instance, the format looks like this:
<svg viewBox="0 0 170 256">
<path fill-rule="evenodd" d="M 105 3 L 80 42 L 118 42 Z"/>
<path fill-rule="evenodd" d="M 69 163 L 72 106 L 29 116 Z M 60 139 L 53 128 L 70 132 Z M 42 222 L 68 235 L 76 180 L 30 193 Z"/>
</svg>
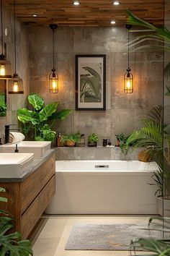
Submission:
<svg viewBox="0 0 170 256">
<path fill-rule="evenodd" d="M 12 74 L 14 74 L 14 15 L 4 9 L 4 29 L 8 30 L 8 34 L 4 35 L 6 43 L 7 59 L 12 64 Z M 24 82 L 24 95 L 7 95 L 7 113 L 6 116 L 0 117 L 0 137 L 4 138 L 5 124 L 17 124 L 17 108 L 21 108 L 25 104 L 25 99 L 29 93 L 29 67 L 28 67 L 28 40 L 27 28 L 20 22 L 16 23 L 17 35 L 17 74 L 22 77 Z"/>
</svg>

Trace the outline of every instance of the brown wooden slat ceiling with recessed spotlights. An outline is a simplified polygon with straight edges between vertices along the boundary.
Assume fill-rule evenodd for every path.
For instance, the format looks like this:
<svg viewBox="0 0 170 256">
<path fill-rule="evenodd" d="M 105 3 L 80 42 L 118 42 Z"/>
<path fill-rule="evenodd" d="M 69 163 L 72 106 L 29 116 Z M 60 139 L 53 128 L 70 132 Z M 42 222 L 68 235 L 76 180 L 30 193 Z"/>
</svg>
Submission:
<svg viewBox="0 0 170 256">
<path fill-rule="evenodd" d="M 28 25 L 109 26 L 110 20 L 124 25 L 128 8 L 154 25 L 164 23 L 164 0 L 120 0 L 119 6 L 114 6 L 113 0 L 79 1 L 79 6 L 73 6 L 71 0 L 16 0 L 16 15 Z M 3 0 L 3 4 L 13 9 L 13 0 Z"/>
</svg>

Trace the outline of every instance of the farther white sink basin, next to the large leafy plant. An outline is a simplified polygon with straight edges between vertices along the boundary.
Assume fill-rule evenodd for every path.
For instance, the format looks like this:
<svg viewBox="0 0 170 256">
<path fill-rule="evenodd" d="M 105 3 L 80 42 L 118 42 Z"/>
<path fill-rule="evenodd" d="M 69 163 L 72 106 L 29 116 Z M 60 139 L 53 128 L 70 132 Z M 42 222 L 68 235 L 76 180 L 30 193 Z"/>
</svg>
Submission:
<svg viewBox="0 0 170 256">
<path fill-rule="evenodd" d="M 22 141 L 17 143 L 19 153 L 34 153 L 35 158 L 42 156 L 50 150 L 50 141 Z M 14 153 L 15 144 L 4 144 L 0 146 L 0 153 Z"/>
</svg>

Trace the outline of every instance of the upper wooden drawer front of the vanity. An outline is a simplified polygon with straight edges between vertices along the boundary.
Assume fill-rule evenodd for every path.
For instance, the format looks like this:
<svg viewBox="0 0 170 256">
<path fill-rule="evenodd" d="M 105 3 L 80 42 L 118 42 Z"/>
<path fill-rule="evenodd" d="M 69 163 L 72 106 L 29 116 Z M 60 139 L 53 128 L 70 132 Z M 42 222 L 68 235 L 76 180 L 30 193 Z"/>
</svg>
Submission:
<svg viewBox="0 0 170 256">
<path fill-rule="evenodd" d="M 22 213 L 35 197 L 40 193 L 45 184 L 55 174 L 55 156 L 51 157 L 42 166 L 37 168 L 33 174 L 22 182 L 21 199 L 22 199 Z"/>
</svg>

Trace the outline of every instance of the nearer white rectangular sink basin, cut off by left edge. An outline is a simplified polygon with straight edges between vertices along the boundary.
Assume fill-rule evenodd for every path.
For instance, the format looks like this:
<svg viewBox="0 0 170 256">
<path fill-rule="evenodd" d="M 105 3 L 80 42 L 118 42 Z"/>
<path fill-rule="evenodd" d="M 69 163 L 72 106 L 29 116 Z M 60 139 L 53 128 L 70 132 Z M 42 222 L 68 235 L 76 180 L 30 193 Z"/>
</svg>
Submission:
<svg viewBox="0 0 170 256">
<path fill-rule="evenodd" d="M 30 171 L 33 153 L 0 153 L 0 178 L 19 178 Z"/>
</svg>

